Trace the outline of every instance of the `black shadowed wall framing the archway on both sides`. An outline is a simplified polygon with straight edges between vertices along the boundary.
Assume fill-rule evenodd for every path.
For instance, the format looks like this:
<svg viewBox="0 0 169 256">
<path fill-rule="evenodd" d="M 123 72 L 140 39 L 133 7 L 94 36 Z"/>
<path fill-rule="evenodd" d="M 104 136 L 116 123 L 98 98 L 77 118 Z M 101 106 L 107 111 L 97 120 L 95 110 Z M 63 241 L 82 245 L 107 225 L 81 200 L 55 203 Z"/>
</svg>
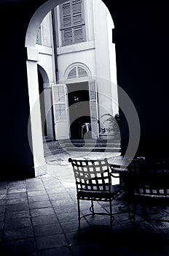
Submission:
<svg viewBox="0 0 169 256">
<path fill-rule="evenodd" d="M 31 16 L 43 2 L 0 2 L 1 177 L 34 176 L 28 142 L 25 33 Z M 119 1 L 111 1 L 110 7 L 110 1 L 104 2 L 115 25 L 117 81 L 132 99 L 141 122 L 138 154 L 168 157 L 169 9 L 153 5 L 130 7 Z M 120 128 L 125 140 L 127 124 L 122 116 Z"/>
</svg>

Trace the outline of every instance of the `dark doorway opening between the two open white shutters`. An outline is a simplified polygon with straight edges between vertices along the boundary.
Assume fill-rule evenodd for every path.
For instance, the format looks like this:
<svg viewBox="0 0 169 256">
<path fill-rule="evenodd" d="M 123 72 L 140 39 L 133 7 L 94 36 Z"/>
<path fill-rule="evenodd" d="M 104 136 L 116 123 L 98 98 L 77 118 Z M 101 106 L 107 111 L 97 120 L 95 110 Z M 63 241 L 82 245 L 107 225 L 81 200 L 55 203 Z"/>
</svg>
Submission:
<svg viewBox="0 0 169 256">
<path fill-rule="evenodd" d="M 71 139 L 83 139 L 90 129 L 90 98 L 88 82 L 67 84 Z M 80 102 L 84 102 L 82 105 Z M 84 106 L 84 108 L 82 107 Z M 88 133 L 90 135 L 90 133 Z"/>
</svg>

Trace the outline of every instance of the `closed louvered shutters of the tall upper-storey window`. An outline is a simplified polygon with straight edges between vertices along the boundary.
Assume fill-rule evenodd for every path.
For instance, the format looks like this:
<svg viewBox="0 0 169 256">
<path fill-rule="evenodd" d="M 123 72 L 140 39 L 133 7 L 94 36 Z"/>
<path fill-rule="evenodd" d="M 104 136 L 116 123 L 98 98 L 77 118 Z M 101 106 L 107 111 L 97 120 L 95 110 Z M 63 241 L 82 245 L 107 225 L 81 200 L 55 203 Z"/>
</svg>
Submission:
<svg viewBox="0 0 169 256">
<path fill-rule="evenodd" d="M 60 4 L 60 30 L 62 45 L 85 41 L 83 0 L 71 0 Z"/>
</svg>

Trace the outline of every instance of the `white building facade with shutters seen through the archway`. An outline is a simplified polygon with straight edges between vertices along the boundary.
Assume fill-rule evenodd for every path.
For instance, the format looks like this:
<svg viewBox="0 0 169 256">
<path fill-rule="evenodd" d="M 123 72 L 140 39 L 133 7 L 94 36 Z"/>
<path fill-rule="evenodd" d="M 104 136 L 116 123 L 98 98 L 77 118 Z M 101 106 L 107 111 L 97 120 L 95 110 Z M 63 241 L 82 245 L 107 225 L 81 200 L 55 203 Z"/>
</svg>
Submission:
<svg viewBox="0 0 169 256">
<path fill-rule="evenodd" d="M 101 140 L 114 133 L 106 114 L 118 110 L 114 23 L 103 1 L 54 7 L 36 37 L 43 135 Z"/>
</svg>

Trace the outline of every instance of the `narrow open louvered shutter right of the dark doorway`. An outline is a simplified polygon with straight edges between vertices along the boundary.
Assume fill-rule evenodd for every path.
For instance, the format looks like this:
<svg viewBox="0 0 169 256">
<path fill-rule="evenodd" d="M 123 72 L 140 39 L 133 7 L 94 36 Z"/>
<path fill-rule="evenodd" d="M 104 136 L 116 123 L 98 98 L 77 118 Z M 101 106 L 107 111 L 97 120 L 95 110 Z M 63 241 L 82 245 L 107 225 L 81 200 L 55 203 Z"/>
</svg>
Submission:
<svg viewBox="0 0 169 256">
<path fill-rule="evenodd" d="M 95 80 L 89 82 L 89 96 L 92 136 L 98 139 L 98 97 Z"/>
</svg>

